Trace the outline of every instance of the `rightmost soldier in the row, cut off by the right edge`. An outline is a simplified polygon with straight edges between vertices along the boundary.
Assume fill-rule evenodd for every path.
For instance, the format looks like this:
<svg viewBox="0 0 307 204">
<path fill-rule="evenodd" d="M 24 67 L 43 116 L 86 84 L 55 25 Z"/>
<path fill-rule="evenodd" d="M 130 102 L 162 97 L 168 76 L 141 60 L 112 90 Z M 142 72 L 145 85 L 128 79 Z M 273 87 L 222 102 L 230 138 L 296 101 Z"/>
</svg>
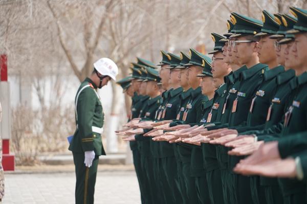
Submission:
<svg viewBox="0 0 307 204">
<path fill-rule="evenodd" d="M 304 57 L 304 48 L 307 42 L 305 32 L 307 31 L 307 11 L 291 7 L 292 13 L 298 17 L 297 23 L 294 25 L 294 29 L 288 31 L 286 37 L 291 37 L 295 34 L 295 42 L 291 43 L 289 50 L 289 56 L 286 58 L 286 66 L 292 67 L 297 78 L 294 78 L 290 82 L 291 100 L 284 114 L 283 127 L 280 135 L 263 136 L 267 140 L 274 140 L 274 137 L 279 136 L 288 138 L 288 134 L 295 132 L 305 131 L 305 111 L 304 107 L 305 94 L 303 92 L 306 88 L 306 58 Z M 291 41 L 291 38 L 280 40 Z M 298 43 L 299 42 L 299 43 Z M 286 52 L 287 53 L 287 52 Z M 304 118 L 304 119 L 303 119 Z M 300 121 L 300 122 L 298 122 Z M 286 139 L 285 138 L 285 139 Z M 287 139 L 286 139 L 287 140 Z M 302 203 L 305 202 L 305 183 L 296 182 L 293 180 L 280 179 L 280 185 L 283 191 L 284 203 Z"/>
</svg>

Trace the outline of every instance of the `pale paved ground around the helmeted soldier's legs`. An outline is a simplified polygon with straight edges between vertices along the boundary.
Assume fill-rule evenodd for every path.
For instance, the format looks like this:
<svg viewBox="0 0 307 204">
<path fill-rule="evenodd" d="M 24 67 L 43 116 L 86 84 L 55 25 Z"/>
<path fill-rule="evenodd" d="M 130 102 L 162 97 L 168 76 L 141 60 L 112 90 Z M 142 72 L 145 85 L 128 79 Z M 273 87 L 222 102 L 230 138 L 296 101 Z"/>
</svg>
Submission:
<svg viewBox="0 0 307 204">
<path fill-rule="evenodd" d="M 3 204 L 73 204 L 74 172 L 5 174 Z M 134 171 L 99 171 L 95 204 L 139 204 L 140 193 Z"/>
</svg>

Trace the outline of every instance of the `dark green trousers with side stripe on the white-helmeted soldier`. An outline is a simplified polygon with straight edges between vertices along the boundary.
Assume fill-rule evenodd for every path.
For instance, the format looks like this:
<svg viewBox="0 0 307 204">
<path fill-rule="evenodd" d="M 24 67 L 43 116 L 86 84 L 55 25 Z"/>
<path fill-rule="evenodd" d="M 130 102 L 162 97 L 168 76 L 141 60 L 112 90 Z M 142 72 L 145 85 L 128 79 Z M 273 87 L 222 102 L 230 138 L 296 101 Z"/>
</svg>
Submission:
<svg viewBox="0 0 307 204">
<path fill-rule="evenodd" d="M 99 157 L 95 156 L 92 166 L 86 167 L 84 164 L 84 153 L 73 152 L 76 171 L 76 204 L 93 204 Z"/>
</svg>

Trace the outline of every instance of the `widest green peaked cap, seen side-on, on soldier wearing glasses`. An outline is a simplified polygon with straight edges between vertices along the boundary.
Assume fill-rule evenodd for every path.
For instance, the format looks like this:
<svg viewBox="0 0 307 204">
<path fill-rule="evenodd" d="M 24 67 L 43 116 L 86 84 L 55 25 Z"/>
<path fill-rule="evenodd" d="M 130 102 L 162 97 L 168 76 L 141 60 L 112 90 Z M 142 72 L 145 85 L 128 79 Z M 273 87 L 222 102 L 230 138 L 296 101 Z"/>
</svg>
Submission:
<svg viewBox="0 0 307 204">
<path fill-rule="evenodd" d="M 232 12 L 230 17 L 234 24 L 233 29 L 231 30 L 234 34 L 230 37 L 256 35 L 261 32 L 263 23 L 260 20 L 235 12 Z"/>
</svg>

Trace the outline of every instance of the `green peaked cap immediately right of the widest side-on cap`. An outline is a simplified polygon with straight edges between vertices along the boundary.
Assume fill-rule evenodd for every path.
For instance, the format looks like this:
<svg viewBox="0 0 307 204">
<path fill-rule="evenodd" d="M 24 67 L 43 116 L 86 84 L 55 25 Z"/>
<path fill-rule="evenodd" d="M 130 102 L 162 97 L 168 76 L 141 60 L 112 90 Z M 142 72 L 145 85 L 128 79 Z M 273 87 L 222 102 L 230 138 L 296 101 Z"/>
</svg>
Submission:
<svg viewBox="0 0 307 204">
<path fill-rule="evenodd" d="M 280 21 L 276 21 L 275 16 L 266 10 L 262 11 L 262 22 L 264 23 L 264 27 L 262 27 L 261 32 L 255 36 L 260 37 L 265 35 L 272 35 L 276 34 L 279 30 Z"/>
</svg>

